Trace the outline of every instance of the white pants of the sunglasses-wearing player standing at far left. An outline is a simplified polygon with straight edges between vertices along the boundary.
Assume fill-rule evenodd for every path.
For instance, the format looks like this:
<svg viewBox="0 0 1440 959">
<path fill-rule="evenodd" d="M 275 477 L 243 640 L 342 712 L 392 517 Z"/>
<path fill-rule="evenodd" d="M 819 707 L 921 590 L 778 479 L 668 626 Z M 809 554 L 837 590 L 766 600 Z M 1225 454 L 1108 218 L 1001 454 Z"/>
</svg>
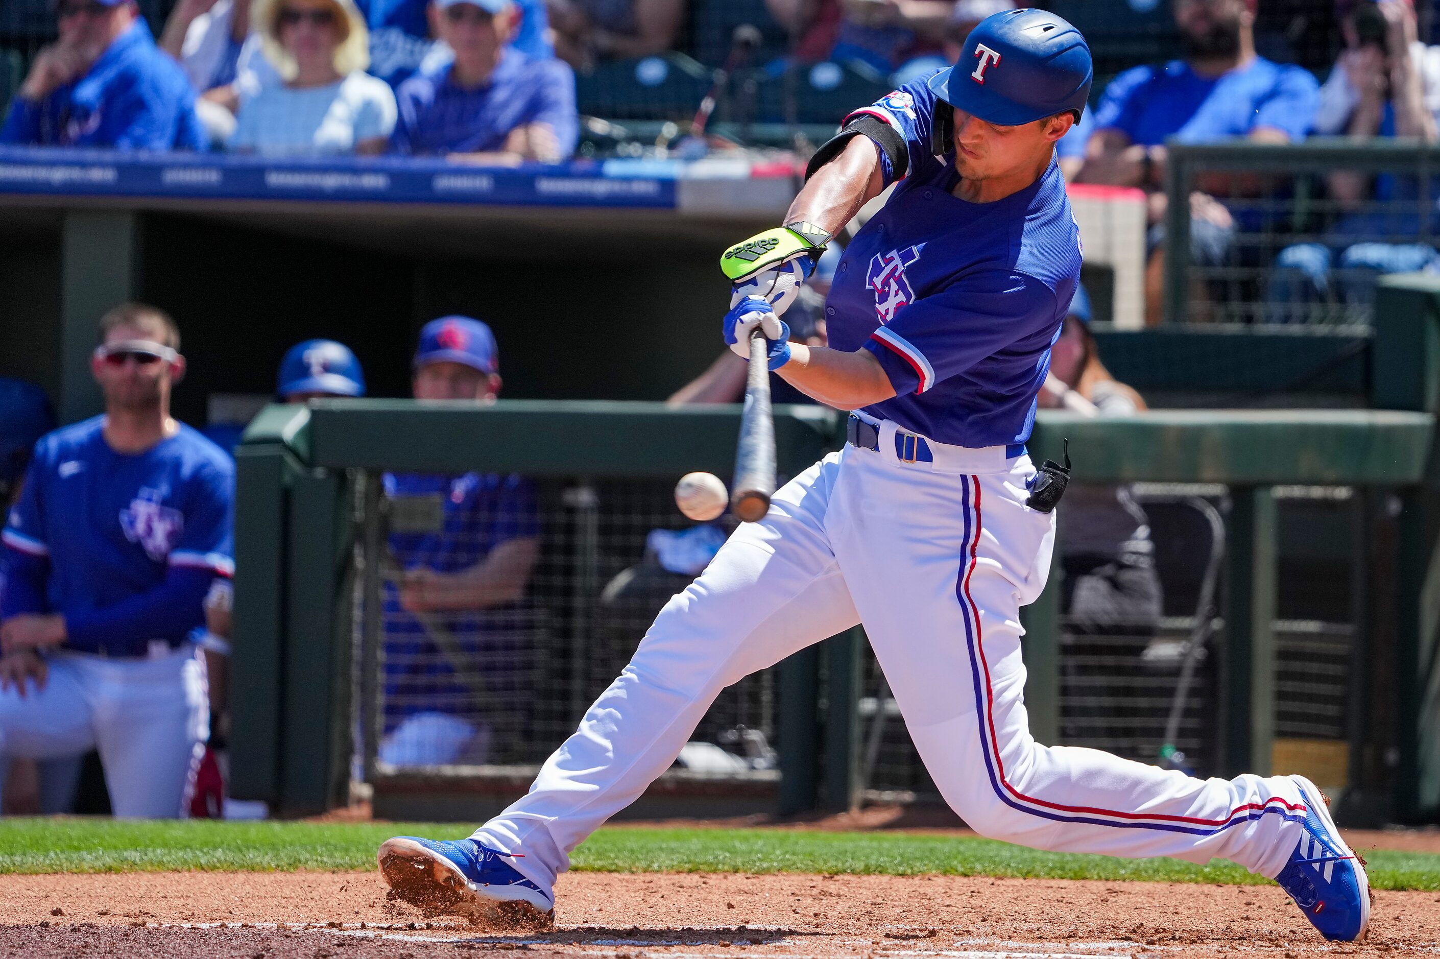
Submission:
<svg viewBox="0 0 1440 959">
<path fill-rule="evenodd" d="M 0 757 L 55 759 L 99 750 L 117 816 L 174 819 L 204 740 L 210 700 L 204 661 L 184 644 L 147 659 L 59 651 L 43 690 L 0 693 Z"/>
</svg>

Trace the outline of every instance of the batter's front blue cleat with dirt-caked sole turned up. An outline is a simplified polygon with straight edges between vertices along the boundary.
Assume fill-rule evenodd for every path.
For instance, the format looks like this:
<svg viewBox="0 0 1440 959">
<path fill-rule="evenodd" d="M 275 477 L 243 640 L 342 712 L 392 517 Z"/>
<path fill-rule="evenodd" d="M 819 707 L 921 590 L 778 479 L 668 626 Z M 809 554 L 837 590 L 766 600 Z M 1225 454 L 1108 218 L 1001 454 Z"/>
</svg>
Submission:
<svg viewBox="0 0 1440 959">
<path fill-rule="evenodd" d="M 386 839 L 376 860 L 390 896 L 428 916 L 465 916 L 507 929 L 549 929 L 554 897 L 517 873 L 511 857 L 475 839 L 438 842 L 412 835 Z"/>
</svg>

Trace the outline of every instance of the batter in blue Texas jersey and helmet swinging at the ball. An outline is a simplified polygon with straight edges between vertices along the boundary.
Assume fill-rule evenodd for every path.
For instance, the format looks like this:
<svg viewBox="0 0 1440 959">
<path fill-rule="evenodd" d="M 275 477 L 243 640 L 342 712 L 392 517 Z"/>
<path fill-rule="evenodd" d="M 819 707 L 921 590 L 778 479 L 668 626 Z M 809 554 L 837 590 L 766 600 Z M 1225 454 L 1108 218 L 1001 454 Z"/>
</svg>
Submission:
<svg viewBox="0 0 1440 959">
<path fill-rule="evenodd" d="M 396 894 L 543 919 L 570 851 L 670 767 L 721 688 L 858 622 L 930 776 L 982 835 L 1228 858 L 1280 883 L 1325 937 L 1364 936 L 1364 865 L 1306 779 L 1201 780 L 1030 734 L 1020 608 L 1045 585 L 1064 484 L 1025 441 L 1080 275 L 1054 144 L 1090 82 L 1079 30 L 998 13 L 958 66 L 845 118 L 785 226 L 724 255 L 726 341 L 743 348 L 759 324 L 786 382 L 855 410 L 850 442 L 667 603 L 528 795 L 468 839 L 386 841 Z M 796 281 L 891 183 L 840 262 L 829 347 L 788 343 Z"/>
</svg>

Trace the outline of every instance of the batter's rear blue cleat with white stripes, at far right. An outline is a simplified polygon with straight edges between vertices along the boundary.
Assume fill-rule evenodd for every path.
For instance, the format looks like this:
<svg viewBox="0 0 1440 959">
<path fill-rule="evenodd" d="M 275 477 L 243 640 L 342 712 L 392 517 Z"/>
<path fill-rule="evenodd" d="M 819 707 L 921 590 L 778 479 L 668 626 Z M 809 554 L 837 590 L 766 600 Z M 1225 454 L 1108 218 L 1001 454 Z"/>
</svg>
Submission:
<svg viewBox="0 0 1440 959">
<path fill-rule="evenodd" d="M 1329 805 L 1315 783 L 1305 776 L 1290 779 L 1305 796 L 1305 832 L 1274 881 L 1326 939 L 1364 939 L 1369 923 L 1369 877 L 1365 875 L 1365 863 L 1345 845 L 1331 819 Z"/>
</svg>

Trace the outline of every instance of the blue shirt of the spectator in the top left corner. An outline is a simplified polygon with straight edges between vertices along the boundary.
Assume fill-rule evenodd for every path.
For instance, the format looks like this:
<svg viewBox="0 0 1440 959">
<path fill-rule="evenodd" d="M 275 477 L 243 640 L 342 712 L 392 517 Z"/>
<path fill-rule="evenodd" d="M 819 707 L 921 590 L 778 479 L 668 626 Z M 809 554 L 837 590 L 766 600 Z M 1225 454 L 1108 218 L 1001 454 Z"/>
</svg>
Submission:
<svg viewBox="0 0 1440 959">
<path fill-rule="evenodd" d="M 203 150 L 190 78 L 137 20 L 84 76 L 39 102 L 16 96 L 0 143 L 120 150 Z"/>
</svg>

